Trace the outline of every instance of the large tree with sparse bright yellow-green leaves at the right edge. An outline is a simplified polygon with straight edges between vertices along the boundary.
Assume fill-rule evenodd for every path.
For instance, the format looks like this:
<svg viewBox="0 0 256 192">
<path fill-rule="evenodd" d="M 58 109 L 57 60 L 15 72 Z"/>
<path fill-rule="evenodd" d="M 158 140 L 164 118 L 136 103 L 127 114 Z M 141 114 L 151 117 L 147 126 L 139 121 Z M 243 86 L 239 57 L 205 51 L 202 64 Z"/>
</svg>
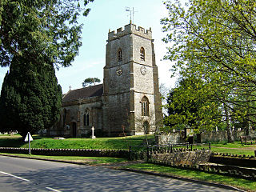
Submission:
<svg viewBox="0 0 256 192">
<path fill-rule="evenodd" d="M 162 19 L 172 46 L 166 59 L 174 73 L 194 74 L 208 86 L 211 98 L 222 103 L 230 130 L 233 119 L 254 122 L 256 2 L 254 0 L 188 0 L 185 6 L 166 1 Z"/>
</svg>

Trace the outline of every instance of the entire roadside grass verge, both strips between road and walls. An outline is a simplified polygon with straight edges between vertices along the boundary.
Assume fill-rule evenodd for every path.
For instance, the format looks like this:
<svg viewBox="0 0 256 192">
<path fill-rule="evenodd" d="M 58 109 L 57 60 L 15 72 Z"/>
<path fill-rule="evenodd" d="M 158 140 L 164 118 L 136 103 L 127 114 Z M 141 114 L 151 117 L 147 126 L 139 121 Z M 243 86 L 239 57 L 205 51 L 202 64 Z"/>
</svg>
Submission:
<svg viewBox="0 0 256 192">
<path fill-rule="evenodd" d="M 3 154 L 3 153 L 0 153 Z M 86 165 L 115 165 L 117 163 L 128 162 L 125 158 L 104 158 L 104 157 L 73 157 L 73 156 L 44 156 L 44 155 L 34 155 L 34 154 L 11 154 L 16 157 L 26 157 L 26 158 L 42 158 L 48 160 L 61 160 L 66 162 L 82 162 Z M 196 170 L 183 170 L 170 166 L 158 166 L 151 163 L 136 163 L 128 162 L 129 164 L 124 164 L 122 168 L 130 168 L 134 170 L 145 170 L 154 173 L 174 175 L 182 178 L 193 178 L 206 182 L 221 183 L 229 186 L 235 186 L 242 190 L 256 191 L 256 182 L 242 179 L 242 178 L 232 178 L 227 176 L 222 176 L 218 174 L 209 174 Z M 120 166 L 120 165 L 119 165 Z"/>
</svg>

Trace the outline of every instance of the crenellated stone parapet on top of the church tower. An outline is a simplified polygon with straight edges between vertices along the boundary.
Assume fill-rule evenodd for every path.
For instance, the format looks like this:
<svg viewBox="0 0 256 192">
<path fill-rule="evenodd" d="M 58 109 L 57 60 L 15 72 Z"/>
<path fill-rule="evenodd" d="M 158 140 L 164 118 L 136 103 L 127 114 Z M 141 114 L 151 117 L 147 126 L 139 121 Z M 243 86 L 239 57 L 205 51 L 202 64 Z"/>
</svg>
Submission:
<svg viewBox="0 0 256 192">
<path fill-rule="evenodd" d="M 124 36 L 126 34 L 136 34 L 138 36 L 141 36 L 142 38 L 152 39 L 151 28 L 150 28 L 150 30 L 145 30 L 141 26 L 138 26 L 138 28 L 136 28 L 136 25 L 130 23 L 129 25 L 125 26 L 124 30 L 121 27 L 121 28 L 118 28 L 117 33 L 115 33 L 114 30 L 109 32 L 108 42 L 110 42 L 114 39 L 117 39 L 117 38 L 121 38 L 122 36 Z"/>
</svg>

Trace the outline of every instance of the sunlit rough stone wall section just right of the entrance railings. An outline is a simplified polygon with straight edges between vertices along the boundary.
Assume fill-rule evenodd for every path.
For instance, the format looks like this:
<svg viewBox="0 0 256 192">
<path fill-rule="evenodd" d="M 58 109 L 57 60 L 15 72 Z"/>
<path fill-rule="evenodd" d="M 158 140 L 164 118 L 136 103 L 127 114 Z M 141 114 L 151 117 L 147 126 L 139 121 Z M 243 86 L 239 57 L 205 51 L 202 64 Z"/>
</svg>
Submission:
<svg viewBox="0 0 256 192">
<path fill-rule="evenodd" d="M 199 165 L 209 162 L 210 150 L 194 150 L 160 154 L 154 152 L 150 158 L 158 162 L 170 162 L 174 165 Z"/>
</svg>

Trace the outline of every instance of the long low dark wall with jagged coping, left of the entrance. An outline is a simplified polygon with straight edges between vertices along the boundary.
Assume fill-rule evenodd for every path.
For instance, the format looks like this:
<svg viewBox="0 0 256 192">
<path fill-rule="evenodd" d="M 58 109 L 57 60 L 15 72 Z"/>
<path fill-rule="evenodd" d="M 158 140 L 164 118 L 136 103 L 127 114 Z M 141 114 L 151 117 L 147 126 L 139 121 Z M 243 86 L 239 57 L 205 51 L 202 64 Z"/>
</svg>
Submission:
<svg viewBox="0 0 256 192">
<path fill-rule="evenodd" d="M 28 154 L 28 148 L 0 147 L 1 153 Z M 74 149 L 30 149 L 31 154 L 49 156 L 83 156 L 130 158 L 129 150 L 74 150 Z"/>
</svg>

